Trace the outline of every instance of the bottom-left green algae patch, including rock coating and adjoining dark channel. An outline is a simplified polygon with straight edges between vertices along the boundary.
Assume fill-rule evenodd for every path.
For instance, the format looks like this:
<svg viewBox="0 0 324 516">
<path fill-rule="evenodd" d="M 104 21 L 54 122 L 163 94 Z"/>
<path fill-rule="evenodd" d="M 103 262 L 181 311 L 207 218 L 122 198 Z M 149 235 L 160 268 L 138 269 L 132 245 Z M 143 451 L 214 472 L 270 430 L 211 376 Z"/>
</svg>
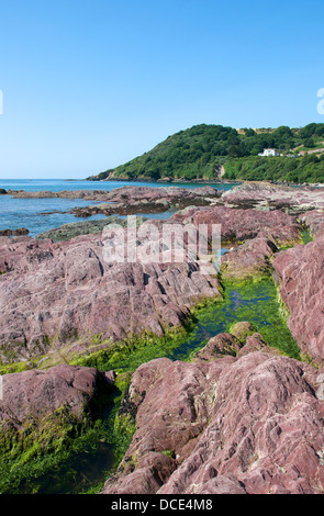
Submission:
<svg viewBox="0 0 324 516">
<path fill-rule="evenodd" d="M 129 382 L 130 374 L 121 374 L 101 410 L 81 419 L 62 406 L 37 420 L 30 417 L 19 431 L 3 423 L 0 493 L 98 493 L 135 430 L 134 420 L 119 412 Z"/>
</svg>

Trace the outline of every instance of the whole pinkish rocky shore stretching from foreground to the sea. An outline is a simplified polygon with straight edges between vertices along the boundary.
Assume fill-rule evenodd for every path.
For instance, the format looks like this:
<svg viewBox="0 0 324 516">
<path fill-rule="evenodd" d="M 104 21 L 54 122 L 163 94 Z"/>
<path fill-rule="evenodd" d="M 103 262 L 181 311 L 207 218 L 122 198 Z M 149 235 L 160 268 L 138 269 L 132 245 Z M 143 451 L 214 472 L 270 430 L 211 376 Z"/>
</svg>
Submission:
<svg viewBox="0 0 324 516">
<path fill-rule="evenodd" d="M 3 483 L 10 461 L 18 468 L 21 460 L 13 449 L 23 450 L 26 465 L 58 446 L 59 436 L 67 452 L 70 436 L 89 435 L 112 404 L 111 431 L 127 439 L 101 494 L 322 494 L 323 192 L 270 183 L 227 192 L 139 186 L 62 192 L 98 203 L 75 209 L 76 216 L 109 218 L 36 238 L 0 236 L 1 490 L 13 489 Z M 168 210 L 165 221 L 149 218 Z M 147 215 L 138 217 L 139 236 L 130 237 L 116 215 L 134 213 Z M 108 228 L 118 225 L 138 250 L 153 223 L 159 249 L 170 224 L 205 225 L 209 238 L 221 225 L 227 253 L 208 272 L 203 256 L 188 259 L 188 240 L 183 262 L 107 260 Z M 275 343 L 246 318 L 202 340 L 186 360 L 164 355 L 164 346 L 186 339 L 197 310 L 265 279 L 298 359 L 278 348 L 280 335 Z M 264 324 L 272 324 L 271 314 Z M 157 358 L 145 360 L 154 346 Z M 125 366 L 133 355 L 141 364 Z"/>
</svg>

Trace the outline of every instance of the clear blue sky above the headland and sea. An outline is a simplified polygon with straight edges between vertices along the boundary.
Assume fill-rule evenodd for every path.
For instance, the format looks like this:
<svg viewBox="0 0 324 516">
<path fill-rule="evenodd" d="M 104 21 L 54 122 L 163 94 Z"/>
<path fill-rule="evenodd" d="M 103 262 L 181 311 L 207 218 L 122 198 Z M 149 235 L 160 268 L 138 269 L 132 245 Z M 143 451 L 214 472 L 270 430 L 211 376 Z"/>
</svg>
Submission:
<svg viewBox="0 0 324 516">
<path fill-rule="evenodd" d="M 10 0 L 0 178 L 85 178 L 195 124 L 324 122 L 323 0 Z"/>
</svg>

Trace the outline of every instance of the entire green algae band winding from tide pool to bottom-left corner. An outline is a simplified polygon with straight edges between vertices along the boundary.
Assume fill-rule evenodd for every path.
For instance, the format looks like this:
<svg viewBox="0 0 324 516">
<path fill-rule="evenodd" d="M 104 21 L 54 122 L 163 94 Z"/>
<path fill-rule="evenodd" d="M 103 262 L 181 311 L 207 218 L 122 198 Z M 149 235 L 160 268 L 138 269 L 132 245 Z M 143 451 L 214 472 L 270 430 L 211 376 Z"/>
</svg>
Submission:
<svg viewBox="0 0 324 516">
<path fill-rule="evenodd" d="M 230 332 L 242 321 L 253 323 L 269 346 L 300 358 L 270 276 L 254 282 L 225 281 L 223 288 L 223 299 L 201 304 L 182 330 L 175 329 L 165 337 L 145 334 L 119 343 L 110 351 L 75 358 L 72 363 L 116 371 L 107 413 L 92 422 L 85 415 L 78 423 L 62 407 L 41 425 L 30 420 L 19 435 L 10 428 L 2 431 L 0 492 L 98 492 L 115 471 L 132 439 L 135 425 L 120 412 L 121 402 L 132 372 L 148 360 L 168 357 L 190 361 L 211 337 Z"/>
</svg>

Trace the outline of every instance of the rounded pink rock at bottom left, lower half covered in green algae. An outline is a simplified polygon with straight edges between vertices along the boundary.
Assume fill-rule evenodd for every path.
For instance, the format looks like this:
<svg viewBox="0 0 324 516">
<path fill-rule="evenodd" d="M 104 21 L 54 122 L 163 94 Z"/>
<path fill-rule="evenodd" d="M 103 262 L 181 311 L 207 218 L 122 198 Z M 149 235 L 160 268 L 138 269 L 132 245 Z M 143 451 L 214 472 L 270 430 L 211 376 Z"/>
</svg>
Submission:
<svg viewBox="0 0 324 516">
<path fill-rule="evenodd" d="M 2 380 L 0 492 L 42 492 L 48 475 L 97 446 L 111 382 L 94 369 L 68 364 Z"/>
</svg>

